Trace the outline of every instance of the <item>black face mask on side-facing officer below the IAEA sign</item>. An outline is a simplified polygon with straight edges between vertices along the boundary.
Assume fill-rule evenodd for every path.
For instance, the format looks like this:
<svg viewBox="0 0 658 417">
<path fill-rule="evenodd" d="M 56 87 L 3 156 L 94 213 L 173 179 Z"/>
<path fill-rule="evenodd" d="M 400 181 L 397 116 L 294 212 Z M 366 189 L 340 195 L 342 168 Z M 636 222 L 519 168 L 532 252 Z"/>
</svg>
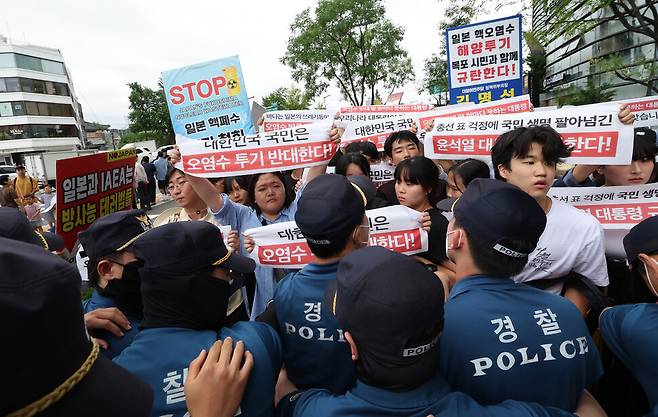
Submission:
<svg viewBox="0 0 658 417">
<path fill-rule="evenodd" d="M 140 292 L 139 268 L 142 261 L 133 261 L 123 266 L 121 279 L 113 279 L 105 288 L 97 288 L 100 295 L 114 299 L 119 309 L 127 316 L 142 317 L 142 294 Z"/>
</svg>

